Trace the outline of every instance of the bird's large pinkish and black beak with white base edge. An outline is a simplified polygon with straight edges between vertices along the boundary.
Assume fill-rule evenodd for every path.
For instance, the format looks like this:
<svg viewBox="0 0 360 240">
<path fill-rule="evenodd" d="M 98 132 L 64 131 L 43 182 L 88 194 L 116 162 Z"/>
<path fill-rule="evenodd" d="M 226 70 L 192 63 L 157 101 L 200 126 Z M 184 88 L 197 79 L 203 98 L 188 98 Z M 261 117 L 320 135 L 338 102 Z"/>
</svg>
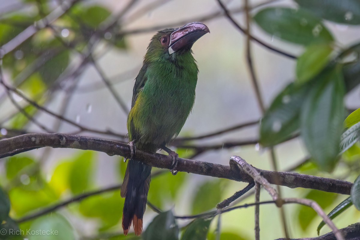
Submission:
<svg viewBox="0 0 360 240">
<path fill-rule="evenodd" d="M 188 23 L 176 29 L 170 35 L 169 54 L 173 54 L 185 46 L 192 46 L 193 43 L 204 34 L 210 33 L 208 27 L 203 23 Z"/>
</svg>

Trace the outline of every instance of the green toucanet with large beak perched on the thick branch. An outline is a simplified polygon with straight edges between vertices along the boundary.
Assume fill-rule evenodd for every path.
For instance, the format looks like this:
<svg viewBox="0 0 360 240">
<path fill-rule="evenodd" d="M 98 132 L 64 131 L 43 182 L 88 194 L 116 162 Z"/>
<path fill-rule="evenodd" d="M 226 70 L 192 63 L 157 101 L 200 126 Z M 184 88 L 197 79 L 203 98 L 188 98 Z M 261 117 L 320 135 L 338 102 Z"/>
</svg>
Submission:
<svg viewBox="0 0 360 240">
<path fill-rule="evenodd" d="M 192 111 L 199 70 L 191 48 L 206 33 L 210 31 L 205 24 L 192 22 L 158 31 L 150 40 L 127 117 L 131 158 L 121 187 L 124 235 L 131 224 L 135 235 L 141 234 L 150 185 L 152 167 L 132 159 L 135 149 L 153 153 L 163 149 L 173 160 L 170 171 L 177 172 L 179 156 L 166 146 L 180 133 Z"/>
</svg>

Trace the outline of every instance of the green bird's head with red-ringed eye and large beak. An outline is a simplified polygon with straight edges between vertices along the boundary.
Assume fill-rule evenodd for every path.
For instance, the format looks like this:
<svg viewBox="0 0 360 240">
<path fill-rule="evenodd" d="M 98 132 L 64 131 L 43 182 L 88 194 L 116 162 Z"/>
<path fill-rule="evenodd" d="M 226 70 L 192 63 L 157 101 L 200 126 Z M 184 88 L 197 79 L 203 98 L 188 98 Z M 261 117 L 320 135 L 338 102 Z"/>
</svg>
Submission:
<svg viewBox="0 0 360 240">
<path fill-rule="evenodd" d="M 186 52 L 190 53 L 194 42 L 208 32 L 208 27 L 199 22 L 163 29 L 152 37 L 145 60 L 171 60 Z"/>
</svg>

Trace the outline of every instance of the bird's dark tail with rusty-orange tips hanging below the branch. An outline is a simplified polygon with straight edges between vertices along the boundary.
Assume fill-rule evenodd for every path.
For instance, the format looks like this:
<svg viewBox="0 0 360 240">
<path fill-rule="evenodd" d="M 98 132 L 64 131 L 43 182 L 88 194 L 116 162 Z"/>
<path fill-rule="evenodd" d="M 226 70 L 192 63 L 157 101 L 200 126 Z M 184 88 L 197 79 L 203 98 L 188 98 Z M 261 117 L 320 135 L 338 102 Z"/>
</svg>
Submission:
<svg viewBox="0 0 360 240">
<path fill-rule="evenodd" d="M 136 160 L 129 160 L 125 171 L 121 197 L 125 197 L 122 210 L 122 229 L 126 235 L 131 223 L 135 235 L 143 231 L 143 216 L 150 185 L 151 166 Z"/>
</svg>

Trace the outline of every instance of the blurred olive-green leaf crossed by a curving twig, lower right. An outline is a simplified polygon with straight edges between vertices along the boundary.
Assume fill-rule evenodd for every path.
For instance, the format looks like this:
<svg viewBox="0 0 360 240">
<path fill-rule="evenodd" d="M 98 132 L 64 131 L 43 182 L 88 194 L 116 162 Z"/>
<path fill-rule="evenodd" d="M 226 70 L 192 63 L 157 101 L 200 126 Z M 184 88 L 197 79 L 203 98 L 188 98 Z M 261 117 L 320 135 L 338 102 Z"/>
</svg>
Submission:
<svg viewBox="0 0 360 240">
<path fill-rule="evenodd" d="M 304 198 L 314 200 L 321 208 L 325 209 L 336 200 L 337 194 L 319 190 L 310 190 Z M 314 209 L 302 205 L 298 207 L 298 220 L 302 230 L 305 231 L 307 227 L 312 226 L 311 221 L 314 220 L 316 216 L 317 214 Z"/>
</svg>

